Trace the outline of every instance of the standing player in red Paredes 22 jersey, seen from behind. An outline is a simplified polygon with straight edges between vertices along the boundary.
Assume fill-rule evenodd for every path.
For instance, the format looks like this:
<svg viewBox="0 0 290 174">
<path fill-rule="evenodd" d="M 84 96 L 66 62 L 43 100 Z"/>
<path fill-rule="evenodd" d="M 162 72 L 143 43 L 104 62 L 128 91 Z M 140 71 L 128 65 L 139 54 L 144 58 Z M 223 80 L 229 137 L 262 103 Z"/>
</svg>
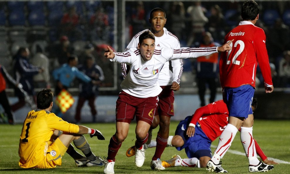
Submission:
<svg viewBox="0 0 290 174">
<path fill-rule="evenodd" d="M 241 141 L 249 160 L 249 172 L 272 170 L 273 165 L 259 162 L 252 138 L 253 116 L 251 103 L 255 90 L 256 68 L 262 71 L 265 92 L 273 92 L 269 58 L 266 49 L 266 36 L 262 28 L 254 26 L 259 19 L 259 6 L 255 1 L 246 1 L 241 10 L 243 21 L 225 36 L 225 43 L 234 39 L 232 50 L 220 56 L 220 82 L 223 100 L 229 110 L 229 124 L 222 132 L 218 147 L 207 164 L 209 171 L 227 173 L 220 159 L 230 148 L 241 128 Z"/>
</svg>

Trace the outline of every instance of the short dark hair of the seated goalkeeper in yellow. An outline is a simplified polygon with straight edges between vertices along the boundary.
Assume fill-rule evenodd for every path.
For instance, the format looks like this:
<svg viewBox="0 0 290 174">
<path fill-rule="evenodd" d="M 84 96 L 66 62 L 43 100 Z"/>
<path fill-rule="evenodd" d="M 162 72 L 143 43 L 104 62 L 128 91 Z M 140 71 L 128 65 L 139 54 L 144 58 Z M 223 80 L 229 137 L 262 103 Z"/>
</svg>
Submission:
<svg viewBox="0 0 290 174">
<path fill-rule="evenodd" d="M 42 89 L 37 94 L 37 108 L 38 109 L 47 109 L 50 107 L 51 102 L 53 101 L 53 92 L 51 89 Z"/>
</svg>

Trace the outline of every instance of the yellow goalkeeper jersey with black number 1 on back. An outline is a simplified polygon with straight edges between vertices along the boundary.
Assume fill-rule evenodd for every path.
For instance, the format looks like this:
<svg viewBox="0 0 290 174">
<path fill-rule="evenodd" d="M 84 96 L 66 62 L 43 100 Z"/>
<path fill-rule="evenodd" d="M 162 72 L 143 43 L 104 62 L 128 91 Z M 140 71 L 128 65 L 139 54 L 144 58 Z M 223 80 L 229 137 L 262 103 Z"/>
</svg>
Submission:
<svg viewBox="0 0 290 174">
<path fill-rule="evenodd" d="M 78 133 L 79 126 L 63 121 L 45 110 L 30 111 L 23 123 L 18 155 L 21 168 L 33 168 L 43 161 L 54 130 Z"/>
</svg>

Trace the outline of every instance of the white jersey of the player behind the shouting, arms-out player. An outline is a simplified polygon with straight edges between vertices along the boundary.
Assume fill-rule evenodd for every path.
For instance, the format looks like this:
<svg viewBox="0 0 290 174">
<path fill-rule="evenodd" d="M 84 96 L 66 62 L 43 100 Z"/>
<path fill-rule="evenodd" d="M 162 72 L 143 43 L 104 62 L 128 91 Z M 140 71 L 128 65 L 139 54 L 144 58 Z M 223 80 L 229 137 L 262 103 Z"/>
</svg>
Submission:
<svg viewBox="0 0 290 174">
<path fill-rule="evenodd" d="M 150 29 L 146 29 L 144 31 L 148 31 Z M 161 49 L 161 48 L 180 48 L 180 43 L 179 40 L 176 36 L 174 36 L 172 33 L 167 31 L 166 28 L 163 28 L 164 34 L 161 37 L 156 37 L 155 36 L 155 46 L 156 49 Z M 127 50 L 132 47 L 137 47 L 139 43 L 139 36 L 144 32 L 141 31 L 138 34 L 136 34 L 129 45 L 127 46 Z M 173 68 L 173 73 L 172 71 L 169 70 L 169 62 L 166 62 L 160 71 L 159 74 L 159 85 L 160 86 L 166 86 L 166 85 L 171 85 L 172 82 L 177 82 L 178 84 L 180 83 L 180 77 L 183 71 L 183 61 L 181 59 L 179 60 L 173 60 L 171 61 L 171 66 Z M 123 76 L 126 76 L 126 65 L 122 64 L 122 71 L 123 71 Z"/>
</svg>

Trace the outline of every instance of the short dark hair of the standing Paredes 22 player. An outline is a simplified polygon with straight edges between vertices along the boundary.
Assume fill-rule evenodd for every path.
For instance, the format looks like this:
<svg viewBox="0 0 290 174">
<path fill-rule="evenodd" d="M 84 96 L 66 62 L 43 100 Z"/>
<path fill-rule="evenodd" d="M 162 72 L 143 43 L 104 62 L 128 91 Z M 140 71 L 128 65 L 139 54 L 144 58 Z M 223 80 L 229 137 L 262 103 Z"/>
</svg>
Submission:
<svg viewBox="0 0 290 174">
<path fill-rule="evenodd" d="M 257 2 L 248 0 L 242 6 L 241 16 L 244 21 L 253 21 L 259 14 L 260 8 Z"/>
</svg>

